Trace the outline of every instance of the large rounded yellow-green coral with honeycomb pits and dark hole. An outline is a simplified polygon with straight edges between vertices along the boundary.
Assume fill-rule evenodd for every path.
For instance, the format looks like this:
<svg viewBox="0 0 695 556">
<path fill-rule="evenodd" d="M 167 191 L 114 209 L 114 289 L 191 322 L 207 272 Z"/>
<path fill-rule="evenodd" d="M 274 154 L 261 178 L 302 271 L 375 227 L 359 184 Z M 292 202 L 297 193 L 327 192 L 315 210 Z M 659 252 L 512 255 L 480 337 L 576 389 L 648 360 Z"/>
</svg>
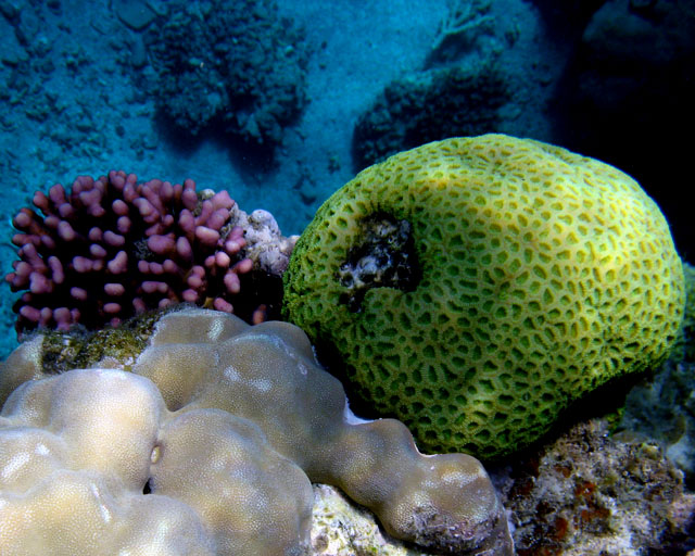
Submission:
<svg viewBox="0 0 695 556">
<path fill-rule="evenodd" d="M 285 315 L 337 355 L 351 400 L 426 451 L 482 457 L 661 362 L 684 303 L 669 227 L 639 184 L 503 135 L 365 169 L 319 208 L 283 279 Z"/>
</svg>

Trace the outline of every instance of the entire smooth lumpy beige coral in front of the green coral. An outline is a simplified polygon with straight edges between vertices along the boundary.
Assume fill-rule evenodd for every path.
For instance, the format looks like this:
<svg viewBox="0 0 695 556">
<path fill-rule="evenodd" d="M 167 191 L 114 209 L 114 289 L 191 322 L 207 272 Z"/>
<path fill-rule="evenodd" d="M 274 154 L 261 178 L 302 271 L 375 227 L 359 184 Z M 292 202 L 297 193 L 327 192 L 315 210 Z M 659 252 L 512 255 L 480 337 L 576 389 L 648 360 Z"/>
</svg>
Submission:
<svg viewBox="0 0 695 556">
<path fill-rule="evenodd" d="M 355 418 L 293 325 L 185 308 L 156 323 L 135 362 L 60 374 L 43 368 L 43 340 L 0 366 L 0 392 L 12 391 L 0 414 L 3 555 L 299 556 L 309 480 L 421 549 L 514 554 L 480 463 L 424 456 L 403 424 Z"/>
</svg>

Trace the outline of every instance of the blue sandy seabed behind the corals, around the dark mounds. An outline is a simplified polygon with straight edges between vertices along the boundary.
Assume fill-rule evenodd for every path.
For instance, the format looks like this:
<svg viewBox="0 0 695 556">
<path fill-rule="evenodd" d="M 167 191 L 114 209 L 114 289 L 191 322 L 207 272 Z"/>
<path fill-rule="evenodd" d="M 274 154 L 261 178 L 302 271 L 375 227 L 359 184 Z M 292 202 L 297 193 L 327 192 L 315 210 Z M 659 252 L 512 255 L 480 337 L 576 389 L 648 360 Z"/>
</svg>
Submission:
<svg viewBox="0 0 695 556">
<path fill-rule="evenodd" d="M 204 2 L 199 3 L 205 8 Z M 254 2 L 247 3 L 253 8 Z M 282 1 L 280 16 L 305 31 L 308 102 L 296 122 L 285 127 L 281 144 L 269 161 L 219 129 L 186 137 L 157 111 L 156 91 L 144 78 L 148 72 L 151 77 L 152 70 L 142 37 L 161 20 L 152 17 L 138 29 L 142 22 L 137 21 L 137 12 L 165 14 L 175 3 L 0 0 L 2 274 L 11 270 L 15 258 L 11 218 L 29 203 L 35 190 L 56 182 L 70 185 L 77 175 L 98 176 L 112 168 L 142 179 L 180 182 L 193 178 L 199 189 L 227 189 L 247 212 L 266 208 L 286 235 L 300 233 L 320 203 L 358 169 L 352 156 L 352 136 L 359 116 L 389 83 L 422 72 L 441 38 L 442 23 L 456 4 L 464 12 L 482 13 L 484 8 L 485 20 L 480 29 L 462 35 L 455 55 L 446 63 L 475 67 L 492 56 L 508 85 L 500 119 L 489 130 L 581 147 L 585 154 L 604 156 L 609 151 L 606 146 L 622 140 L 620 129 L 615 130 L 615 138 L 608 134 L 592 152 L 591 142 L 581 142 L 569 126 L 558 130 L 557 125 L 568 116 L 558 112 L 564 108 L 564 91 L 577 83 L 571 80 L 572 67 L 591 11 L 603 3 L 593 2 L 590 10 L 585 7 L 592 2 L 560 2 L 565 7 L 557 8 L 558 3 L 541 0 Z M 655 2 L 606 3 L 632 10 L 632 17 L 642 9 L 640 4 Z M 469 21 L 475 20 L 473 12 Z M 639 17 L 645 20 L 643 15 Z M 624 21 L 633 20 L 626 16 Z M 642 20 L 636 20 L 637 27 Z M 658 24 L 649 25 L 659 30 Z M 232 33 L 228 40 L 233 43 Z M 616 87 L 621 77 L 616 77 Z M 677 106 L 669 114 L 682 109 L 683 122 L 688 122 L 692 106 L 678 105 L 678 94 L 673 100 Z M 672 122 L 671 128 L 678 129 L 683 122 Z M 692 128 L 685 132 L 692 143 Z M 644 140 L 662 143 L 675 138 L 647 134 Z M 644 159 L 643 153 L 635 156 Z M 644 186 L 680 233 L 682 252 L 693 243 L 692 224 L 684 217 L 682 203 L 661 194 L 661 188 L 692 189 L 691 165 L 692 160 L 678 157 L 655 161 L 654 166 L 666 168 L 666 184 L 654 179 L 658 175 L 654 168 L 644 174 L 649 181 Z M 4 282 L 1 292 L 0 355 L 4 355 L 15 344 L 11 311 L 15 294 Z"/>
</svg>

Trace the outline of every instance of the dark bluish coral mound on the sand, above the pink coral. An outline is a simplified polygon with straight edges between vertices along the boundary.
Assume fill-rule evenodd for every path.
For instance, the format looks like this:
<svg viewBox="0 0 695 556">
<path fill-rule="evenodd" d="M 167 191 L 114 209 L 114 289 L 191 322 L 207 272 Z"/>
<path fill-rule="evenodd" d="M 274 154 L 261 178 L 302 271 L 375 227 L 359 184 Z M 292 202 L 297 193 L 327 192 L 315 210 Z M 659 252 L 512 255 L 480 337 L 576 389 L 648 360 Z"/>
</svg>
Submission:
<svg viewBox="0 0 695 556">
<path fill-rule="evenodd" d="M 170 4 L 146 36 L 161 110 L 193 135 L 222 124 L 273 151 L 307 102 L 303 33 L 271 0 Z"/>
</svg>

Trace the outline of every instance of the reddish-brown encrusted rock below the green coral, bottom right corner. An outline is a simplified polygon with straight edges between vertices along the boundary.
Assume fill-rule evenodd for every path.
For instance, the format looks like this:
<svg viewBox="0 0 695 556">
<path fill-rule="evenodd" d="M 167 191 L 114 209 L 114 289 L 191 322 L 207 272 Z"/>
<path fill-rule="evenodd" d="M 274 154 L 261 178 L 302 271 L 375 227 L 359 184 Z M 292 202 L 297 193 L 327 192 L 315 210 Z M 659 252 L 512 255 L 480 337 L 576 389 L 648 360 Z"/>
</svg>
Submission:
<svg viewBox="0 0 695 556">
<path fill-rule="evenodd" d="M 695 548 L 695 494 L 653 441 L 576 425 L 493 473 L 523 556 L 669 556 Z"/>
</svg>

